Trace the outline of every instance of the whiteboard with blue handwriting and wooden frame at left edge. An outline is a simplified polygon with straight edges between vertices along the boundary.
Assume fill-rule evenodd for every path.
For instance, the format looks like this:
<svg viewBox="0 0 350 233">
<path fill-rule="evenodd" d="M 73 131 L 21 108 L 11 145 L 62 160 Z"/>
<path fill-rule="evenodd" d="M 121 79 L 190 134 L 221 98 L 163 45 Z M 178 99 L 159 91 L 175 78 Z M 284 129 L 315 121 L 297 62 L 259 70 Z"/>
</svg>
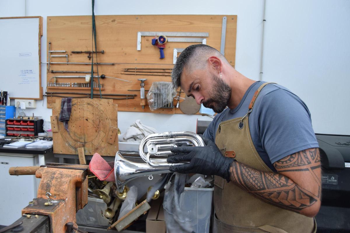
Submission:
<svg viewBox="0 0 350 233">
<path fill-rule="evenodd" d="M 10 99 L 41 100 L 42 17 L 0 18 L 0 28 L 0 88 Z"/>
</svg>

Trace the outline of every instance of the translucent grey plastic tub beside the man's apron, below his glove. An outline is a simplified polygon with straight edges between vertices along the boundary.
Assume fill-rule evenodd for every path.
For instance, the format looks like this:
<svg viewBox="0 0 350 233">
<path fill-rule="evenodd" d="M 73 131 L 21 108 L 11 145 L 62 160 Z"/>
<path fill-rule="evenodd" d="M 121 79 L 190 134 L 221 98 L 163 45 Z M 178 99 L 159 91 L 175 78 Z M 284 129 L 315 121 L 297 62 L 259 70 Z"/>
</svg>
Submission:
<svg viewBox="0 0 350 233">
<path fill-rule="evenodd" d="M 193 231 L 209 233 L 214 188 L 188 188 L 180 195 L 180 208 L 191 219 Z"/>
</svg>

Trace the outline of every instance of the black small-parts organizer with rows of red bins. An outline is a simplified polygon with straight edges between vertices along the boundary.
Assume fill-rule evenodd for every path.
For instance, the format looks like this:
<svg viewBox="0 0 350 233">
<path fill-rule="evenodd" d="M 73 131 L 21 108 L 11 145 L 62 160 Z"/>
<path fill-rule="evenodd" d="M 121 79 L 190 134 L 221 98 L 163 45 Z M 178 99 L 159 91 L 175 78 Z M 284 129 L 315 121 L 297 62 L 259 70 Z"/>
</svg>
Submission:
<svg viewBox="0 0 350 233">
<path fill-rule="evenodd" d="M 38 133 L 44 132 L 43 119 L 23 120 L 23 119 L 7 119 L 6 120 L 6 136 L 38 136 Z"/>
</svg>

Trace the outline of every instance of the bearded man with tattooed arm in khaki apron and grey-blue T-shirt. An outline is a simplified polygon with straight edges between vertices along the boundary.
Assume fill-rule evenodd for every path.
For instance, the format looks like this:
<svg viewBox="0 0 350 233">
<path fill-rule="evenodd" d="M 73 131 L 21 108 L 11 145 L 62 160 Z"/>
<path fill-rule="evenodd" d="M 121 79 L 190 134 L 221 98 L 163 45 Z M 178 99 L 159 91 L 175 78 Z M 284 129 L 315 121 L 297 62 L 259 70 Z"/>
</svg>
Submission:
<svg viewBox="0 0 350 233">
<path fill-rule="evenodd" d="M 177 147 L 170 170 L 215 175 L 217 232 L 316 232 L 321 205 L 318 143 L 305 103 L 285 87 L 255 82 L 216 49 L 186 48 L 172 72 L 197 104 L 219 113 L 205 147 Z M 226 108 L 226 106 L 228 108 Z"/>
</svg>

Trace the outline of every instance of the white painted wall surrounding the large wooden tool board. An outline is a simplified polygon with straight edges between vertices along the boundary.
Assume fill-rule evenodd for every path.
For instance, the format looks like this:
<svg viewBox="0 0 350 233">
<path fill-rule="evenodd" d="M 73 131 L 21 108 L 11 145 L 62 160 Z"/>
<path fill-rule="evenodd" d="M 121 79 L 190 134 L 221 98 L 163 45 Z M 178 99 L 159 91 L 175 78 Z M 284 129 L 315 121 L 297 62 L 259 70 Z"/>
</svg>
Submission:
<svg viewBox="0 0 350 233">
<path fill-rule="evenodd" d="M 277 1 L 266 0 L 263 80 L 275 81 L 299 95 L 308 105 L 316 133 L 350 134 L 349 41 L 350 19 L 347 0 Z M 27 8 L 25 8 L 27 5 Z M 158 4 L 149 1 L 95 2 L 96 15 L 129 14 L 230 14 L 238 15 L 236 69 L 259 80 L 262 14 L 264 2 L 247 0 L 178 0 Z M 0 17 L 43 16 L 42 61 L 46 61 L 46 17 L 91 15 L 91 0 L 0 0 Z M 46 65 L 42 65 L 42 86 L 46 85 Z M 43 104 L 43 107 L 42 107 Z M 341 106 L 341 108 L 339 108 Z M 27 115 L 49 121 L 51 109 L 38 101 Z M 161 115 L 118 112 L 118 125 L 124 131 L 136 119 L 158 131 L 195 131 L 196 119 L 206 116 Z"/>
</svg>

